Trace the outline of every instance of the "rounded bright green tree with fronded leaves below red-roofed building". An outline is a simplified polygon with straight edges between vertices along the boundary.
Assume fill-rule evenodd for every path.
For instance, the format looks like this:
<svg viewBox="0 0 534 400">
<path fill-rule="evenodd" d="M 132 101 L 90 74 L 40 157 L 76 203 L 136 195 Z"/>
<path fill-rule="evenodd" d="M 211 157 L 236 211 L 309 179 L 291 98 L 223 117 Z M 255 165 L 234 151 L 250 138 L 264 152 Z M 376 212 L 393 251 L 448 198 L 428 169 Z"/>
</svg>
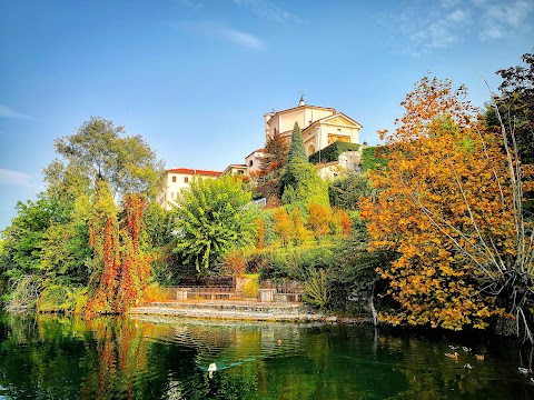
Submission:
<svg viewBox="0 0 534 400">
<path fill-rule="evenodd" d="M 257 209 L 233 177 L 194 180 L 174 208 L 175 252 L 205 273 L 227 251 L 251 246 Z"/>
</svg>

